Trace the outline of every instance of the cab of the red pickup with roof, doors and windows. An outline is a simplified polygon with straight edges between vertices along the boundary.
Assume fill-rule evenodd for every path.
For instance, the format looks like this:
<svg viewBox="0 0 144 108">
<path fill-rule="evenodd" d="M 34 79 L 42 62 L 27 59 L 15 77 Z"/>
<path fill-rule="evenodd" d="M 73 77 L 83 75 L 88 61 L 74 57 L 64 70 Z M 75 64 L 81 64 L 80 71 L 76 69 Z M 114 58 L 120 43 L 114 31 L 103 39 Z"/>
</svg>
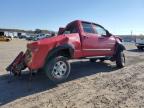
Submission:
<svg viewBox="0 0 144 108">
<path fill-rule="evenodd" d="M 83 57 L 112 56 L 115 50 L 116 38 L 99 24 L 74 21 L 66 28 L 59 29 L 58 34 L 78 33 L 81 40 Z"/>
</svg>

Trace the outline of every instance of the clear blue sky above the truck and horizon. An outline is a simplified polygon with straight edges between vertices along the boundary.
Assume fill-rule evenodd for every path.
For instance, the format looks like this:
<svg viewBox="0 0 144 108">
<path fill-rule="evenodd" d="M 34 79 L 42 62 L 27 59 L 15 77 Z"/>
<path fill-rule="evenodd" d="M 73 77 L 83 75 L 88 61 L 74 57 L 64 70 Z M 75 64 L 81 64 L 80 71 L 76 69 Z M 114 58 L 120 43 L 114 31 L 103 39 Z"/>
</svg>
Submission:
<svg viewBox="0 0 144 108">
<path fill-rule="evenodd" d="M 144 0 L 0 0 L 0 28 L 57 31 L 73 20 L 112 34 L 144 34 Z"/>
</svg>

